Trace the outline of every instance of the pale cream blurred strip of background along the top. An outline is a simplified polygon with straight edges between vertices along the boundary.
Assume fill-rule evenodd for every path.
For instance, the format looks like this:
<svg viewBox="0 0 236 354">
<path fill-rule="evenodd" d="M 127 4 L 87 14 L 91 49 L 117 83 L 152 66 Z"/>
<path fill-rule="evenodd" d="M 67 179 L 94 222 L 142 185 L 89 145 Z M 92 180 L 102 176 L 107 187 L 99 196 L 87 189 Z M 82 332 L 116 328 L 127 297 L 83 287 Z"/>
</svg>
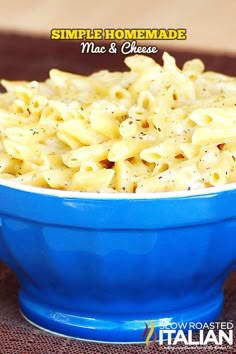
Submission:
<svg viewBox="0 0 236 354">
<path fill-rule="evenodd" d="M 183 49 L 236 53 L 236 0 L 0 0 L 0 30 L 49 36 L 53 27 L 187 28 Z"/>
</svg>

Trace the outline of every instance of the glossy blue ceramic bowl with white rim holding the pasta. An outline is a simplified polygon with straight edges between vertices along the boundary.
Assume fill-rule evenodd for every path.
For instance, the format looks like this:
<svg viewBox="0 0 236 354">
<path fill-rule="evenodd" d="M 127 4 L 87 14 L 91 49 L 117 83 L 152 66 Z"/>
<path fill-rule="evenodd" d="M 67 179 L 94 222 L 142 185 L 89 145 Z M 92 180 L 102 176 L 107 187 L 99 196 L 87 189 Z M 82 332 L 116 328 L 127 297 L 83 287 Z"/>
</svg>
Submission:
<svg viewBox="0 0 236 354">
<path fill-rule="evenodd" d="M 236 268 L 236 185 L 156 194 L 2 181 L 0 257 L 24 316 L 63 335 L 143 341 L 145 323 L 209 322 Z"/>
</svg>

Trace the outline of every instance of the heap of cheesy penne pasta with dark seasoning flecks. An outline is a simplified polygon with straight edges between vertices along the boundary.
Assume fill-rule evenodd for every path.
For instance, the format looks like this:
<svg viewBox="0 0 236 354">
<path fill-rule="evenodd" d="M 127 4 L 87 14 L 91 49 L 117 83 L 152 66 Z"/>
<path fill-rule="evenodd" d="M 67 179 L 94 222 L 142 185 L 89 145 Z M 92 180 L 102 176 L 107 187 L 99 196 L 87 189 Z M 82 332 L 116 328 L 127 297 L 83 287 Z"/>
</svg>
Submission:
<svg viewBox="0 0 236 354">
<path fill-rule="evenodd" d="M 0 178 L 86 192 L 236 182 L 236 78 L 142 55 L 127 72 L 2 80 Z"/>
</svg>

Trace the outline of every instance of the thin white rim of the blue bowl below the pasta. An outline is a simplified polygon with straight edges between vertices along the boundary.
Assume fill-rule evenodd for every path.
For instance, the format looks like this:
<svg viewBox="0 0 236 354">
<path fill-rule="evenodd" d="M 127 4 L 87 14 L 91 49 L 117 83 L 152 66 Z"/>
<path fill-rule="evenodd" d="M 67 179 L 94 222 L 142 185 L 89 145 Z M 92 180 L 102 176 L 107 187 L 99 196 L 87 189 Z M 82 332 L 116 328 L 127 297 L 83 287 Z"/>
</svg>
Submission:
<svg viewBox="0 0 236 354">
<path fill-rule="evenodd" d="M 192 190 L 169 191 L 169 192 L 144 192 L 144 193 L 112 193 L 112 192 L 79 192 L 79 191 L 66 191 L 60 189 L 50 189 L 43 187 L 36 187 L 30 185 L 20 184 L 14 181 L 5 180 L 0 178 L 0 188 L 8 187 L 17 191 L 40 194 L 59 198 L 69 199 L 106 199 L 106 200 L 156 200 L 156 199 L 170 199 L 170 198 L 191 198 L 191 197 L 212 197 L 213 195 L 236 190 L 236 182 L 224 184 L 221 186 L 199 188 Z"/>
</svg>

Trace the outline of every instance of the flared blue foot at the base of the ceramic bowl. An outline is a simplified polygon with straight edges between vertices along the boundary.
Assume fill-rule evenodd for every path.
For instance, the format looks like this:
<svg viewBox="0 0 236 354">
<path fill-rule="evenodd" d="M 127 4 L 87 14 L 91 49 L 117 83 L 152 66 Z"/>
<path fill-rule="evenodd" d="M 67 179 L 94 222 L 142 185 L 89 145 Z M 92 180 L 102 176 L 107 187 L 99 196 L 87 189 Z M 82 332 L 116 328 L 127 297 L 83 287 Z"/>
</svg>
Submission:
<svg viewBox="0 0 236 354">
<path fill-rule="evenodd" d="M 187 327 L 182 329 L 187 332 L 190 323 L 215 321 L 222 310 L 223 292 L 191 308 L 166 314 L 162 312 L 159 316 L 155 313 L 142 313 L 127 318 L 121 315 L 111 315 L 108 318 L 93 313 L 84 316 L 70 313 L 65 309 L 39 303 L 22 290 L 19 293 L 19 302 L 23 317 L 50 333 L 96 342 L 140 343 L 145 341 L 143 334 L 146 324 L 150 326 L 150 321 L 154 323 L 156 333 L 163 324 L 168 324 L 173 329 L 176 325 L 184 323 Z"/>
</svg>

